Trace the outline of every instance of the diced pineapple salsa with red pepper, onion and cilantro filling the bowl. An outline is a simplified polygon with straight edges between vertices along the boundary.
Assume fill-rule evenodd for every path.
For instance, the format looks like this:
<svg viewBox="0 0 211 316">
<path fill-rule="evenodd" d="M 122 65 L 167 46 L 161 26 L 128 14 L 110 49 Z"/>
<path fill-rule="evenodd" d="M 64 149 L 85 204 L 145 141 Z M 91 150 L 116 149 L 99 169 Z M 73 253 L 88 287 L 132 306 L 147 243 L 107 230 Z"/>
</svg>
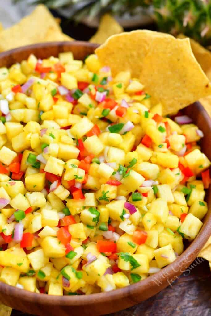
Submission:
<svg viewBox="0 0 211 316">
<path fill-rule="evenodd" d="M 96 55 L 0 69 L 0 281 L 110 291 L 183 252 L 207 213 L 202 131 Z"/>
</svg>

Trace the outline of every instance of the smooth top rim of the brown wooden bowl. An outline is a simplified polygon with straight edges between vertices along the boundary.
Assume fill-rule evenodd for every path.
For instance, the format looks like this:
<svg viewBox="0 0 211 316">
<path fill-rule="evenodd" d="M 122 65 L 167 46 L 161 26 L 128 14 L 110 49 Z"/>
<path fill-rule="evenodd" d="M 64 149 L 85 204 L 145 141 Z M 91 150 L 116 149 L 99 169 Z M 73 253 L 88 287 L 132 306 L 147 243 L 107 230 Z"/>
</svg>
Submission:
<svg viewBox="0 0 211 316">
<path fill-rule="evenodd" d="M 98 45 L 85 42 L 85 41 L 64 41 L 64 42 L 47 42 L 47 43 L 38 43 L 34 45 L 28 45 L 28 46 L 22 46 L 18 47 L 6 52 L 0 53 L 0 59 L 8 57 L 12 54 L 18 53 L 18 52 L 25 52 L 26 50 L 30 49 L 36 49 L 36 48 L 47 48 L 52 46 L 59 46 L 62 47 L 63 45 L 69 46 L 70 48 L 73 46 L 86 46 L 91 48 L 96 48 Z M 204 109 L 204 107 L 201 105 L 200 102 L 195 102 L 193 105 L 197 107 L 198 111 L 201 112 L 204 119 L 208 122 L 209 129 L 211 131 L 211 119 Z M 210 192 L 211 194 L 211 192 Z M 134 299 L 133 295 L 135 293 L 144 293 L 146 290 L 153 292 L 153 287 L 155 286 L 155 278 L 156 276 L 159 285 L 161 286 L 161 289 L 166 287 L 166 279 L 168 276 L 172 279 L 178 278 L 178 271 L 180 270 L 180 275 L 188 268 L 188 266 L 194 261 L 194 259 L 197 257 L 197 254 L 204 246 L 205 242 L 208 240 L 208 237 L 210 236 L 211 232 L 211 216 L 206 216 L 204 218 L 204 224 L 202 226 L 202 229 L 200 230 L 199 234 L 191 242 L 191 244 L 187 247 L 187 249 L 177 257 L 177 259 L 172 262 L 171 264 L 167 265 L 166 267 L 162 268 L 157 273 L 148 276 L 146 279 L 144 279 L 141 282 L 134 283 L 131 285 L 128 285 L 127 287 L 112 290 L 109 292 L 100 292 L 90 295 L 48 295 L 48 294 L 40 294 L 40 293 L 34 293 L 30 292 L 24 289 L 20 289 L 15 286 L 10 286 L 6 283 L 0 282 L 0 292 L 5 293 L 6 295 L 9 295 L 10 298 L 20 298 L 21 295 L 24 296 L 24 300 L 33 303 L 38 304 L 47 304 L 49 306 L 54 305 L 62 305 L 62 306 L 80 306 L 82 304 L 85 304 L 87 306 L 92 305 L 93 302 L 101 301 L 101 303 L 107 303 L 109 301 L 115 300 L 115 299 L 121 299 L 124 297 L 131 298 L 131 301 L 133 302 L 133 305 L 136 303 L 138 304 L 140 300 Z M 179 268 L 179 269 L 178 269 Z M 183 270 L 182 270 L 183 269 Z M 175 280 L 174 279 L 174 280 Z M 162 280 L 163 283 L 159 280 Z M 164 285 L 162 287 L 162 284 Z M 132 304 L 131 304 L 132 305 Z"/>
</svg>

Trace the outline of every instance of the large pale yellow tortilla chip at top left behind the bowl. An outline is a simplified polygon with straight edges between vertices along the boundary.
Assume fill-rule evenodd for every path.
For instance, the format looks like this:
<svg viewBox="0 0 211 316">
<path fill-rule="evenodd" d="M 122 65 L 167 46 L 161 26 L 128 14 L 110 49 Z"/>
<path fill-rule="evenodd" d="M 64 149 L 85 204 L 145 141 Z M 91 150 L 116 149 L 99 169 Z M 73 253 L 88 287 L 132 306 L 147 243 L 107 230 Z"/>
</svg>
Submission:
<svg viewBox="0 0 211 316">
<path fill-rule="evenodd" d="M 40 4 L 19 23 L 0 32 L 0 52 L 43 42 L 49 29 L 54 32 L 61 31 L 50 11 Z"/>
</svg>

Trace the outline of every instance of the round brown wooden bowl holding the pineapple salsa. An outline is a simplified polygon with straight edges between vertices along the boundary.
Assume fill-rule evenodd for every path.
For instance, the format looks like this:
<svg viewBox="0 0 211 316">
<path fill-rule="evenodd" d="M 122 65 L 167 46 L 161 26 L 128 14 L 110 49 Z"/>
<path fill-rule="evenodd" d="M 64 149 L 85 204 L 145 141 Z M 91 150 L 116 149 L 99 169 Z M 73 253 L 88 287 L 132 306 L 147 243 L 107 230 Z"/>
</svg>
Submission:
<svg viewBox="0 0 211 316">
<path fill-rule="evenodd" d="M 96 45 L 86 42 L 53 42 L 13 49 L 0 54 L 0 67 L 21 62 L 33 53 L 38 58 L 58 56 L 60 52 L 71 51 L 76 59 L 84 59 L 94 52 Z M 202 151 L 211 160 L 211 120 L 199 102 L 186 108 L 186 113 L 203 131 Z M 140 283 L 91 295 L 50 296 L 36 294 L 0 282 L 0 301 L 5 305 L 36 315 L 102 315 L 131 307 L 155 295 L 176 280 L 193 262 L 211 232 L 211 188 L 207 191 L 208 213 L 197 238 L 170 265 Z"/>
</svg>

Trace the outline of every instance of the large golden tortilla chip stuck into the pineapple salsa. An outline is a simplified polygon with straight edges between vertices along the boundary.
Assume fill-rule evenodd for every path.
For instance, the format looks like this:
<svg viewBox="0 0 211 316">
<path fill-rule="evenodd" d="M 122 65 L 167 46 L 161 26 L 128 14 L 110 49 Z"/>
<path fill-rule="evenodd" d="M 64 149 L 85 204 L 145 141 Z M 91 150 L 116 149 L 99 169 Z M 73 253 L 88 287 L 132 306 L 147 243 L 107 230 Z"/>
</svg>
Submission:
<svg viewBox="0 0 211 316">
<path fill-rule="evenodd" d="M 197 63 L 189 39 L 149 30 L 111 36 L 96 49 L 102 65 L 109 65 L 112 75 L 131 71 L 140 78 L 152 105 L 162 103 L 163 115 L 211 95 L 211 84 Z"/>
</svg>

